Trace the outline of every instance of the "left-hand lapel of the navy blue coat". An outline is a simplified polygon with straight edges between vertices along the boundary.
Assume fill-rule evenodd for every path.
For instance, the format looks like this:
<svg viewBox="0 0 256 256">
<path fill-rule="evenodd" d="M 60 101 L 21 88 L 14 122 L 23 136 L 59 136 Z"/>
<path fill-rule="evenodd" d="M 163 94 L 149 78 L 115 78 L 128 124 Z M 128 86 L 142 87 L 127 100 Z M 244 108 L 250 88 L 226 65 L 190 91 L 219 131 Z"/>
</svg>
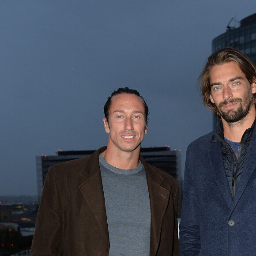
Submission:
<svg viewBox="0 0 256 256">
<path fill-rule="evenodd" d="M 226 177 L 226 172 L 223 164 L 222 146 L 220 142 L 211 142 L 211 148 L 208 150 L 208 155 L 211 158 L 211 167 L 216 184 L 222 192 L 223 198 L 229 208 L 233 207 L 233 199 L 230 192 L 230 186 Z"/>
</svg>

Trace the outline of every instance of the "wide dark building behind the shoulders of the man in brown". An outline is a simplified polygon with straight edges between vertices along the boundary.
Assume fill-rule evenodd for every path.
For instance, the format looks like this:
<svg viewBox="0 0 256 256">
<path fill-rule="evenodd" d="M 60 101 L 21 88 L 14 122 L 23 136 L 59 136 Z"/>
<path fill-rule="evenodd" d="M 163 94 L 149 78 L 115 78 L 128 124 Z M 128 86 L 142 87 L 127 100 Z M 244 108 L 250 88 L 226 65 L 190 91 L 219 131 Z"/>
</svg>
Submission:
<svg viewBox="0 0 256 256">
<path fill-rule="evenodd" d="M 74 160 L 91 155 L 94 150 L 89 151 L 58 151 L 58 155 L 37 156 L 37 180 L 38 180 L 38 200 L 41 198 L 43 184 L 50 166 L 60 162 Z M 183 180 L 181 174 L 181 152 L 170 151 L 169 147 L 148 147 L 141 148 L 140 154 L 152 166 L 158 167 L 171 174 L 179 182 L 179 213 L 181 215 Z"/>
</svg>

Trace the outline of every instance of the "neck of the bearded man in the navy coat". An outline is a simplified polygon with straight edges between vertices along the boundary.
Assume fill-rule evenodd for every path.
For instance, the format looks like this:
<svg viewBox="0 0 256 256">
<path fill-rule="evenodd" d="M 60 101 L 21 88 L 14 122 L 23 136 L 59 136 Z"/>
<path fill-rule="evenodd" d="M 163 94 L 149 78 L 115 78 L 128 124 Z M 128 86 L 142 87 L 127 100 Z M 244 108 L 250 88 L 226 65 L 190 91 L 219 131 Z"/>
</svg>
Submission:
<svg viewBox="0 0 256 256">
<path fill-rule="evenodd" d="M 255 120 L 256 111 L 252 107 L 248 115 L 243 119 L 235 123 L 227 123 L 222 118 L 224 137 L 233 142 L 241 142 L 242 136 L 245 131 L 250 128 Z"/>
</svg>

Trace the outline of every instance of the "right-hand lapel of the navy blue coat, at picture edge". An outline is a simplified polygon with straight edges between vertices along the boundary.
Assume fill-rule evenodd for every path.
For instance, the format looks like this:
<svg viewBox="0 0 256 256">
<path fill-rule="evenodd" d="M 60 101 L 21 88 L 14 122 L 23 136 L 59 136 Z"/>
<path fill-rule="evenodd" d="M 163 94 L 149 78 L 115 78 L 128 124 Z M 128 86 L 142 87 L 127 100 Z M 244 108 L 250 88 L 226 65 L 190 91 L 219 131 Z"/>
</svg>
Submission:
<svg viewBox="0 0 256 256">
<path fill-rule="evenodd" d="M 256 170 L 256 127 L 252 133 L 252 138 L 249 143 L 247 153 L 245 156 L 245 163 L 242 169 L 241 179 L 239 181 L 237 191 L 234 198 L 234 207 L 238 203 L 241 198 L 243 192 L 245 191 L 245 187 L 252 176 L 252 173 Z"/>
</svg>

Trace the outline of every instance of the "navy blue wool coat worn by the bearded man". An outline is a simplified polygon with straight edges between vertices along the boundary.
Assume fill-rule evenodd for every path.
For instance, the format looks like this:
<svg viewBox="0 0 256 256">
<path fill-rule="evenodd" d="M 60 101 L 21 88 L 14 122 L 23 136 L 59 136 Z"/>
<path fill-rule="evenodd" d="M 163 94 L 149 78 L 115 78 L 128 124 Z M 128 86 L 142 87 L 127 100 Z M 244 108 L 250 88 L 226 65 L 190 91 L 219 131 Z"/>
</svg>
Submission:
<svg viewBox="0 0 256 256">
<path fill-rule="evenodd" d="M 232 199 L 214 132 L 187 149 L 180 223 L 181 256 L 256 255 L 256 125 Z"/>
</svg>

